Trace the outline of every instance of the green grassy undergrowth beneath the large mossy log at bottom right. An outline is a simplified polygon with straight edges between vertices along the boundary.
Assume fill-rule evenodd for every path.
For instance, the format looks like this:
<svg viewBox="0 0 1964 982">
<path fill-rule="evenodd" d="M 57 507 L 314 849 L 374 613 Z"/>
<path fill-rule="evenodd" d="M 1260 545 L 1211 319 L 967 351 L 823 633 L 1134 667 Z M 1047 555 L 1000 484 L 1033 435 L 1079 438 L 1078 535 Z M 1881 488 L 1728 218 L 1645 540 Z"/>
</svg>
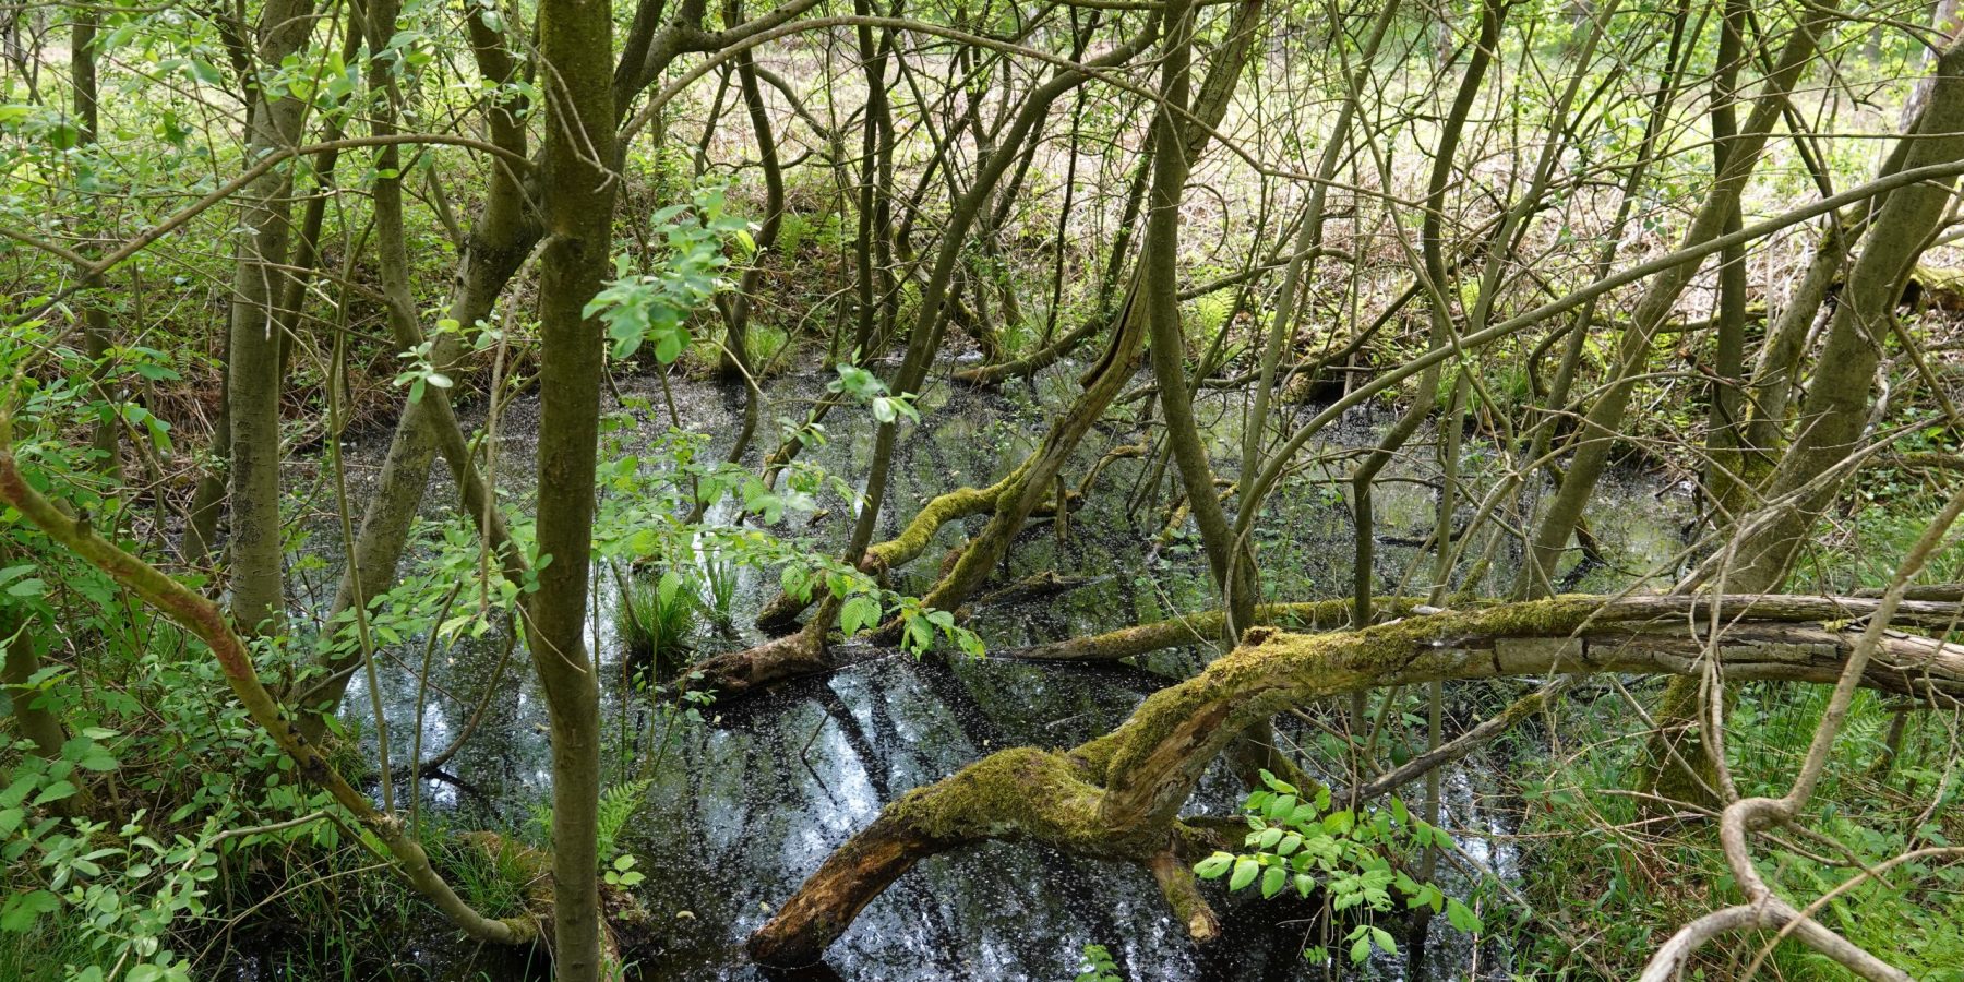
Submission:
<svg viewBox="0 0 1964 982">
<path fill-rule="evenodd" d="M 1787 790 L 1827 701 L 1825 687 L 1744 685 L 1728 717 L 1726 746 L 1742 795 Z M 1717 827 L 1701 819 L 1660 821 L 1632 786 L 1644 731 L 1626 703 L 1603 695 L 1567 701 L 1552 754 L 1522 780 L 1524 894 L 1554 929 L 1530 931 L 1518 972 L 1532 978 L 1634 978 L 1683 923 L 1740 903 Z M 1897 705 L 1864 691 L 1803 823 L 1815 835 L 1756 854 L 1781 894 L 1817 898 L 1860 876 L 1860 866 L 1921 846 L 1964 841 L 1964 817 L 1948 762 L 1956 717 Z M 1883 878 L 1860 878 L 1819 919 L 1880 953 L 1913 978 L 1964 980 L 1964 862 L 1905 862 Z M 1546 925 L 1544 925 L 1546 927 Z M 1591 939 L 1577 945 L 1575 939 Z M 1746 933 L 1707 945 L 1687 978 L 1738 978 L 1773 941 Z M 1803 945 L 1768 953 L 1762 978 L 1828 982 L 1846 970 Z"/>
</svg>

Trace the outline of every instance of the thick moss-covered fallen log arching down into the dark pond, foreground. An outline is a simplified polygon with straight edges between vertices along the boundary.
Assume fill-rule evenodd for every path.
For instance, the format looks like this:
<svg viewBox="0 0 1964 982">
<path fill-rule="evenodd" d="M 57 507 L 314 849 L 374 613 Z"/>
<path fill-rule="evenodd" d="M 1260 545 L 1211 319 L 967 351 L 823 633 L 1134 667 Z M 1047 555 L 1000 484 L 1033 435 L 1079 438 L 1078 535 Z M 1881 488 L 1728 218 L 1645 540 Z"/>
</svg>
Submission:
<svg viewBox="0 0 1964 982">
<path fill-rule="evenodd" d="M 1958 615 L 1956 605 L 1917 607 L 1903 619 Z M 1194 833 L 1176 815 L 1208 764 L 1249 727 L 1314 699 L 1506 676 L 1689 676 L 1709 666 L 1711 650 L 1722 652 L 1728 680 L 1832 683 L 1858 636 L 1848 621 L 1874 611 L 1876 601 L 1827 597 L 1557 597 L 1330 634 L 1255 628 L 1104 736 L 1063 752 L 1002 750 L 892 801 L 750 935 L 748 951 L 768 966 L 811 964 L 915 862 L 974 843 L 1165 862 Z M 1889 634 L 1864 685 L 1956 705 L 1964 646 Z M 1196 939 L 1210 935 L 1190 903 L 1182 921 Z"/>
</svg>

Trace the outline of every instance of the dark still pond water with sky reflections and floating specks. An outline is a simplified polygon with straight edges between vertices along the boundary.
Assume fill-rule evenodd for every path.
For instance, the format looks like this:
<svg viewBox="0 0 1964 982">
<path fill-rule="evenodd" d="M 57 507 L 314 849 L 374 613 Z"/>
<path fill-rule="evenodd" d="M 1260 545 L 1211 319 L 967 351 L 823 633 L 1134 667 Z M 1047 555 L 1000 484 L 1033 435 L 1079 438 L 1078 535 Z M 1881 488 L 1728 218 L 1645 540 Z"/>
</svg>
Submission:
<svg viewBox="0 0 1964 982">
<path fill-rule="evenodd" d="M 1013 467 L 1045 432 L 1037 407 L 1059 407 L 1074 395 L 1076 365 L 1059 365 L 1035 383 L 1015 383 L 996 393 L 937 385 L 923 395 L 921 422 L 898 442 L 896 467 L 882 532 L 892 532 L 925 499 L 958 485 L 984 485 Z M 772 420 L 801 416 L 823 393 L 817 369 L 768 383 L 766 424 L 760 442 L 774 442 Z M 672 377 L 666 393 L 656 377 L 621 379 L 619 391 L 642 401 L 636 434 L 650 444 L 668 430 L 670 399 L 680 426 L 711 436 L 725 454 L 740 418 L 740 389 Z M 609 399 L 607 409 L 619 409 Z M 1308 418 L 1310 407 L 1281 412 Z M 481 422 L 481 409 L 477 410 Z M 1204 397 L 1216 456 L 1231 460 L 1239 448 L 1241 403 Z M 1279 599 L 1324 599 L 1349 593 L 1353 530 L 1339 493 L 1353 452 L 1371 446 L 1391 422 L 1385 410 L 1359 410 L 1336 426 L 1302 460 L 1312 460 L 1279 489 L 1259 526 L 1265 587 Z M 536 448 L 536 405 L 518 401 L 499 420 L 501 483 L 524 501 Z M 872 456 L 872 420 L 854 407 L 827 418 L 831 440 L 805 460 L 848 481 L 864 481 L 862 462 Z M 1123 426 L 1094 432 L 1080 460 L 1066 471 L 1076 483 L 1106 446 L 1135 442 Z M 1377 495 L 1381 589 L 1398 591 L 1406 566 L 1422 556 L 1418 542 L 1432 530 L 1436 491 L 1434 436 L 1420 436 L 1389 471 Z M 387 434 L 346 448 L 355 499 L 381 464 Z M 752 452 L 754 460 L 756 452 Z M 1324 458 L 1324 460 L 1318 460 Z M 1461 464 L 1475 501 L 1493 487 L 1483 477 L 1493 454 L 1477 434 L 1467 440 Z M 442 467 L 432 477 L 426 513 L 446 517 L 456 495 Z M 1119 460 L 1106 467 L 1088 503 L 1059 534 L 1053 522 L 1033 522 L 1011 550 L 1000 581 L 1057 572 L 1074 583 L 1059 595 L 1023 603 L 974 607 L 972 627 L 990 650 L 1061 640 L 1210 605 L 1204 560 L 1190 530 L 1161 540 L 1165 491 L 1143 489 L 1143 462 Z M 1612 475 L 1591 515 L 1605 566 L 1575 583 L 1581 589 L 1630 585 L 1644 577 L 1669 577 L 1681 548 L 1685 503 L 1673 489 L 1642 475 Z M 1127 509 L 1131 505 L 1131 509 Z M 805 538 L 833 552 L 848 526 L 843 501 L 821 501 L 829 515 L 797 517 L 780 534 Z M 717 520 L 717 515 L 711 515 Z M 982 518 L 966 522 L 980 528 Z M 896 583 L 919 591 L 939 568 L 947 546 L 962 528 L 949 526 Z M 304 581 L 332 589 L 338 550 L 332 528 L 322 526 L 316 554 L 324 566 Z M 1483 548 L 1483 546 L 1481 546 Z M 1471 550 L 1477 552 L 1477 550 Z M 1430 577 L 1432 560 L 1418 564 L 1414 583 Z M 1502 548 L 1495 570 L 1514 570 Z M 1497 577 L 1502 573 L 1495 573 Z M 1072 746 L 1106 733 L 1151 691 L 1196 672 L 1208 650 L 1161 652 L 1139 664 L 1043 666 L 1013 660 L 972 660 L 960 654 L 915 658 L 898 650 L 848 646 L 846 668 L 821 678 L 793 680 L 729 703 L 701 707 L 701 719 L 680 717 L 621 685 L 625 652 L 615 636 L 609 575 L 595 577 L 603 593 L 595 609 L 593 646 L 603 672 L 603 715 L 609 782 L 650 780 L 619 837 L 619 848 L 646 874 L 634 894 L 652 915 L 638 945 L 630 978 L 707 980 L 780 978 L 748 964 L 744 937 L 784 903 L 823 858 L 862 829 L 882 803 L 909 788 L 935 782 L 960 766 L 1006 746 Z M 735 627 L 703 628 L 699 650 L 723 650 L 762 638 L 750 628 L 754 611 L 770 597 L 774 572 L 740 575 Z M 320 597 L 314 605 L 324 603 Z M 424 754 L 448 744 L 464 727 L 485 685 L 495 685 L 477 733 L 444 768 L 442 778 L 420 782 L 418 793 L 430 821 L 456 829 L 538 827 L 550 793 L 544 701 L 532 682 L 524 652 L 517 652 L 501 678 L 493 678 L 503 646 L 497 638 L 442 650 L 428 678 L 420 713 Z M 418 723 L 416 680 L 409 660 L 420 660 L 422 642 L 410 642 L 401 660 L 379 664 L 381 705 L 397 758 L 405 754 Z M 1455 687 L 1449 707 L 1475 719 L 1477 705 L 1499 695 L 1489 687 Z M 361 678 L 350 689 L 344 721 L 365 735 L 375 731 L 369 691 Z M 1320 719 L 1334 721 L 1326 709 Z M 1279 721 L 1279 736 L 1314 746 L 1320 731 L 1294 719 Z M 648 746 L 662 750 L 648 754 Z M 638 748 L 638 750 L 636 750 Z M 1512 880 L 1516 850 L 1506 843 L 1512 805 L 1500 776 L 1504 760 L 1473 756 L 1444 782 L 1444 821 L 1455 831 L 1475 870 Z M 397 797 L 407 791 L 399 786 Z M 1231 813 L 1241 790 L 1212 774 L 1192 811 Z M 1416 793 L 1416 790 L 1414 790 Z M 1467 896 L 1467 872 L 1442 868 L 1442 886 Z M 894 980 L 1068 980 L 1080 968 L 1084 945 L 1106 945 L 1125 978 L 1326 978 L 1300 951 L 1314 913 L 1304 905 L 1228 900 L 1210 888 L 1228 923 L 1228 937 L 1200 951 L 1184 939 L 1151 878 L 1135 868 L 1092 862 L 1049 848 L 984 845 L 935 856 L 901 876 L 874 900 L 846 935 L 829 949 L 821 966 L 801 978 Z M 1400 937 L 1404 956 L 1381 956 L 1377 976 L 1402 978 L 1508 978 L 1502 939 L 1473 941 L 1434 921 L 1422 947 Z M 1420 953 L 1422 949 L 1422 953 Z M 244 951 L 242 951 L 244 953 Z M 277 947 L 246 956 L 238 978 L 273 978 Z M 540 958 L 530 958 L 538 962 Z M 401 978 L 503 980 L 542 978 L 542 970 L 511 953 L 460 945 L 442 925 L 399 953 Z"/>
</svg>

